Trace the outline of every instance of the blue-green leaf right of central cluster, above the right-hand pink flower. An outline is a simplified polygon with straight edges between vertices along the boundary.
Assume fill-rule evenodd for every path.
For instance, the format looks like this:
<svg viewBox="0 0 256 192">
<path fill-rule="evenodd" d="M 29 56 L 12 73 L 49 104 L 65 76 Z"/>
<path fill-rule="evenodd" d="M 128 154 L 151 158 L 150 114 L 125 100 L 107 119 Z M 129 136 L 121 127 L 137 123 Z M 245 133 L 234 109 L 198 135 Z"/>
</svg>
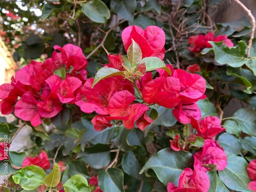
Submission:
<svg viewBox="0 0 256 192">
<path fill-rule="evenodd" d="M 197 101 L 197 105 L 201 111 L 201 118 L 207 117 L 207 116 L 217 116 L 217 110 L 213 103 L 209 101 L 208 98 L 206 99 L 200 99 Z"/>
</svg>

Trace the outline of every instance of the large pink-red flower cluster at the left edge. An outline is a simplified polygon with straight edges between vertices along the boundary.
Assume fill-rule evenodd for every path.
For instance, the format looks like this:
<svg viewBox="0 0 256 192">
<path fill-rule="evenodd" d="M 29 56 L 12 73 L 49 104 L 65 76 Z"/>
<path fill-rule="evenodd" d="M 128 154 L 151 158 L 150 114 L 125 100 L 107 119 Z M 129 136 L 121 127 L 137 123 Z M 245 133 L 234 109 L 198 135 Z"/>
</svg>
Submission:
<svg viewBox="0 0 256 192">
<path fill-rule="evenodd" d="M 87 80 L 84 69 L 88 61 L 77 46 L 67 44 L 54 49 L 52 58 L 44 63 L 31 61 L 15 73 L 10 84 L 0 86 L 2 114 L 14 111 L 18 118 L 37 126 L 41 118 L 57 115 L 62 103 L 75 103 L 77 89 Z"/>
</svg>

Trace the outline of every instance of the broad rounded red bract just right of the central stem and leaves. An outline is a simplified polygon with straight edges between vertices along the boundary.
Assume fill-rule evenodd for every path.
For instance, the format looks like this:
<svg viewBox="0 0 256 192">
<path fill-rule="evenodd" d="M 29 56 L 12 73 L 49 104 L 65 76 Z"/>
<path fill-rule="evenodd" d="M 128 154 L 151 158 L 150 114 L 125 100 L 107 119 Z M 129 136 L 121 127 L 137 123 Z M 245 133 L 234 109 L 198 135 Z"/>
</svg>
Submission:
<svg viewBox="0 0 256 192">
<path fill-rule="evenodd" d="M 158 77 L 147 82 L 143 88 L 143 99 L 148 103 L 157 103 L 165 108 L 172 109 L 181 99 L 180 82 L 175 77 Z"/>
</svg>

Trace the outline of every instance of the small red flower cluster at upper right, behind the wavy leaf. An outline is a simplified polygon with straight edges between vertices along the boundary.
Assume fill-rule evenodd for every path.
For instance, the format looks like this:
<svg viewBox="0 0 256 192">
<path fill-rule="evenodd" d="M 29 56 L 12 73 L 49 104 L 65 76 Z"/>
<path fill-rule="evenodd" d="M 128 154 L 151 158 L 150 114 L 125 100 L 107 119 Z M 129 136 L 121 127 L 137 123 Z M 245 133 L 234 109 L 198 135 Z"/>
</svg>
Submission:
<svg viewBox="0 0 256 192">
<path fill-rule="evenodd" d="M 190 36 L 188 38 L 188 44 L 193 47 L 188 47 L 188 49 L 194 53 L 200 53 L 204 48 L 212 47 L 208 41 L 223 41 L 223 44 L 227 45 L 228 47 L 233 47 L 233 43 L 227 38 L 227 35 L 218 35 L 215 37 L 214 33 L 209 32 L 206 35 L 199 34 L 198 36 Z"/>
</svg>

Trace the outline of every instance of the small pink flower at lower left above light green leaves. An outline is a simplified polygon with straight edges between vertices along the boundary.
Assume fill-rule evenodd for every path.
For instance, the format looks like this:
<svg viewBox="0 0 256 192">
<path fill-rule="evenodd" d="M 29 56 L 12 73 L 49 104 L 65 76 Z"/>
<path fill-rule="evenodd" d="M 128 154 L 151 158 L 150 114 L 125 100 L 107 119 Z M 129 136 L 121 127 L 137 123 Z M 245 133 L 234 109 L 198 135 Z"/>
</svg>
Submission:
<svg viewBox="0 0 256 192">
<path fill-rule="evenodd" d="M 41 151 L 41 153 L 36 157 L 25 157 L 22 163 L 22 168 L 28 166 L 28 165 L 37 165 L 41 167 L 42 169 L 49 169 L 51 168 L 50 161 L 48 159 L 48 156 L 44 150 Z"/>
</svg>

